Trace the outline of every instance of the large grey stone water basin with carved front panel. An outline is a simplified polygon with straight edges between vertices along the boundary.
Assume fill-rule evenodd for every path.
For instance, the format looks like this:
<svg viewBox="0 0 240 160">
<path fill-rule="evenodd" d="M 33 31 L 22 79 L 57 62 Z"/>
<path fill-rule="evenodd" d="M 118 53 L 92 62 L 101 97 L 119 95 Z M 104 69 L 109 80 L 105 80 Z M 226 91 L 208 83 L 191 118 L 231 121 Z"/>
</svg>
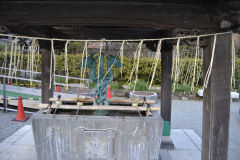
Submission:
<svg viewBox="0 0 240 160">
<path fill-rule="evenodd" d="M 160 115 L 32 117 L 38 160 L 158 160 Z"/>
</svg>

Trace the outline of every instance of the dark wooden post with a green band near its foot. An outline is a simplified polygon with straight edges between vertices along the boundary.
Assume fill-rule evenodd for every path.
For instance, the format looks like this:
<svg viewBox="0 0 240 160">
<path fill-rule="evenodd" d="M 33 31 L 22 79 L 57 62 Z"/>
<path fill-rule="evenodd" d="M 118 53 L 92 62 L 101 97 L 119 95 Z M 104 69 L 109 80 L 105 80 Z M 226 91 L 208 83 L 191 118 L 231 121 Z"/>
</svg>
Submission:
<svg viewBox="0 0 240 160">
<path fill-rule="evenodd" d="M 172 49 L 172 44 L 164 43 L 161 50 L 161 116 L 164 120 L 163 136 L 170 136 L 171 133 Z"/>
</svg>

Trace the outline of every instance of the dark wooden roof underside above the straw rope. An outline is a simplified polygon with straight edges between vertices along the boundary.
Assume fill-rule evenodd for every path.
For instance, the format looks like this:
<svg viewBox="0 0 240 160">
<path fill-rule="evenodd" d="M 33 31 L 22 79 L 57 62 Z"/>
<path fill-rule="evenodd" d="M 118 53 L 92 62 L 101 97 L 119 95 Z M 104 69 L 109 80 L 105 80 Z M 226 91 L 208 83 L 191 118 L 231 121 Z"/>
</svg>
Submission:
<svg viewBox="0 0 240 160">
<path fill-rule="evenodd" d="M 240 32 L 234 0 L 0 1 L 0 32 L 57 38 L 153 38 L 175 29 Z"/>
</svg>

